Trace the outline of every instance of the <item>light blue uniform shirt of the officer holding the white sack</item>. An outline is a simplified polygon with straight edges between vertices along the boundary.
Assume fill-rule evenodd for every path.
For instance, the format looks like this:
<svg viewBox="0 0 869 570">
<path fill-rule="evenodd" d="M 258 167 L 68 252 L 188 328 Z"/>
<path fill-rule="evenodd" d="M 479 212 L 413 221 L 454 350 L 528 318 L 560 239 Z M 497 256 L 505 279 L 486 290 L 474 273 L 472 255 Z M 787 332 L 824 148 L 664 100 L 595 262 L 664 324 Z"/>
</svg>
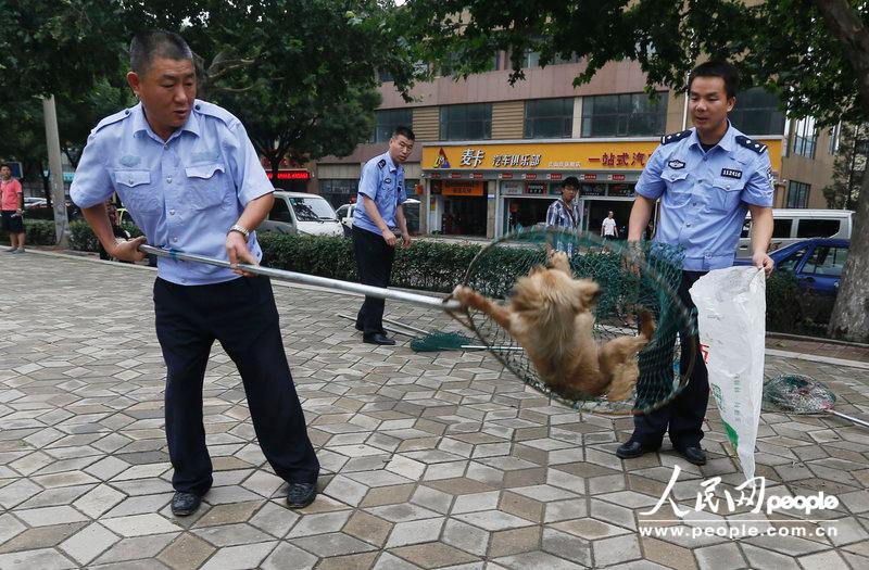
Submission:
<svg viewBox="0 0 869 570">
<path fill-rule="evenodd" d="M 637 193 L 662 199 L 655 240 L 685 249 L 689 271 L 733 265 L 748 204 L 772 207 L 772 165 L 765 144 L 728 125 L 704 151 L 696 129 L 662 138 Z"/>
</svg>

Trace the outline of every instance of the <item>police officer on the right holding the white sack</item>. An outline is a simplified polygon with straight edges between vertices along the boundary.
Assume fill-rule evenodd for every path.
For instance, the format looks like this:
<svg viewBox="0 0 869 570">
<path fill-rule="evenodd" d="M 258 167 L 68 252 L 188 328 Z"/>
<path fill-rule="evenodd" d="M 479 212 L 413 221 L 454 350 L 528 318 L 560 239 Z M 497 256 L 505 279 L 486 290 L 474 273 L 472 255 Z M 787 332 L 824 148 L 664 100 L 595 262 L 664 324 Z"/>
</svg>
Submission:
<svg viewBox="0 0 869 570">
<path fill-rule="evenodd" d="M 693 308 L 689 289 L 694 281 L 711 269 L 733 265 L 746 210 L 752 213 L 752 261 L 766 275 L 772 271 L 767 249 L 772 237 L 773 187 L 766 145 L 742 135 L 727 118 L 736 102 L 736 69 L 725 62 L 704 63 L 691 72 L 688 87 L 694 128 L 666 135 L 648 160 L 637 182 L 628 240 L 641 239 L 660 199 L 655 241 L 684 248 L 679 297 Z M 659 409 L 634 416 L 633 434 L 618 447 L 617 456 L 657 451 L 668 431 L 685 459 L 706 463 L 700 442 L 709 381 L 696 338 L 695 342 L 688 387 Z M 682 344 L 683 355 L 690 346 L 690 341 Z"/>
</svg>

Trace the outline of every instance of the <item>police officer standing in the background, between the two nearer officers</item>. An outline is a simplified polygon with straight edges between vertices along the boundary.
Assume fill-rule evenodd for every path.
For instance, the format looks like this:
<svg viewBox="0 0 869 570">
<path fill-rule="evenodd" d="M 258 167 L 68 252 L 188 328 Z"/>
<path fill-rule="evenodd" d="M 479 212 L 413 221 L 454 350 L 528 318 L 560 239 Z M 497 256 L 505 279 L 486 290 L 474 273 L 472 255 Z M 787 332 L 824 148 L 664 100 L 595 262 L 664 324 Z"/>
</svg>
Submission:
<svg viewBox="0 0 869 570">
<path fill-rule="evenodd" d="M 404 206 L 404 161 L 414 149 L 414 131 L 396 127 L 389 139 L 389 150 L 375 156 L 362 168 L 358 199 L 353 212 L 353 254 L 360 281 L 374 287 L 389 287 L 392 261 L 401 232 L 403 245 L 411 245 Z M 363 342 L 395 344 L 383 331 L 382 299 L 366 296 L 356 316 L 356 330 Z"/>
</svg>

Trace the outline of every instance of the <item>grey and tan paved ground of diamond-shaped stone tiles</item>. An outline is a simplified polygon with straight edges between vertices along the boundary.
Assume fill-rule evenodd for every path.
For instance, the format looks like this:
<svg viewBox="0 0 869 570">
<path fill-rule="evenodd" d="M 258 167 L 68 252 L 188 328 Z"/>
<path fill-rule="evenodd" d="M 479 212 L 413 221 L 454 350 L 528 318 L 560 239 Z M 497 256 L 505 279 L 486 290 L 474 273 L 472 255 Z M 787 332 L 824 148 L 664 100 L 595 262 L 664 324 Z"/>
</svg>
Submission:
<svg viewBox="0 0 869 570">
<path fill-rule="evenodd" d="M 285 344 L 323 464 L 322 494 L 302 511 L 285 508 L 236 368 L 215 347 L 204 394 L 215 486 L 199 512 L 175 518 L 154 274 L 0 253 L 0 569 L 869 568 L 867 430 L 763 415 L 757 474 L 768 478 L 767 495 L 822 491 L 839 498 L 834 510 L 765 517 L 740 507 L 679 519 L 665 506 L 643 516 L 675 466 L 672 495 L 685 507 L 708 478 L 722 478 L 719 497 L 742 481 L 714 410 L 707 466 L 668 447 L 621 461 L 613 452 L 630 418 L 553 405 L 484 353 L 362 344 L 335 316 L 354 311 L 355 297 L 282 286 Z M 388 311 L 418 327 L 452 327 L 407 305 Z M 797 369 L 833 388 L 839 410 L 869 416 L 869 370 L 767 359 L 768 375 Z M 828 522 L 804 520 L 817 518 Z M 640 532 L 748 519 L 761 530 L 835 527 L 837 536 Z"/>
</svg>

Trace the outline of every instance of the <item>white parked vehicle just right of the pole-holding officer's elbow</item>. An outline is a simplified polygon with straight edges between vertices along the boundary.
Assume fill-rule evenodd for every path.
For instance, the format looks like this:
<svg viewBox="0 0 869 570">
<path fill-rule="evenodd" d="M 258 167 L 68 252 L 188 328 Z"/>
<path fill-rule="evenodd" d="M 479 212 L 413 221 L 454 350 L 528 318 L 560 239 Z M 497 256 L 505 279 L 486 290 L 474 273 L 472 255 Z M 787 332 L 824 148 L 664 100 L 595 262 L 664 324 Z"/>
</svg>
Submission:
<svg viewBox="0 0 869 570">
<path fill-rule="evenodd" d="M 325 198 L 304 192 L 275 191 L 275 204 L 257 231 L 303 236 L 343 236 L 341 223 Z"/>
</svg>

